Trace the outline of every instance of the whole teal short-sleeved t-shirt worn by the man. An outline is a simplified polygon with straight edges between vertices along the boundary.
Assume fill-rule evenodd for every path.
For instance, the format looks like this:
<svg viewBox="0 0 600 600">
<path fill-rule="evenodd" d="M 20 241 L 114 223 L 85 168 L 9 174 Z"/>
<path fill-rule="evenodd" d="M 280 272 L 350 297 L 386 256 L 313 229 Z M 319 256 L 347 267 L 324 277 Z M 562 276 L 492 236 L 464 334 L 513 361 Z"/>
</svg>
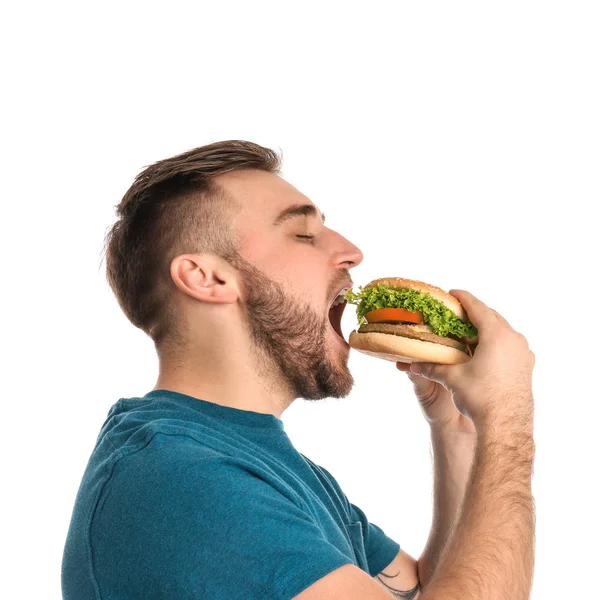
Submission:
<svg viewBox="0 0 600 600">
<path fill-rule="evenodd" d="M 153 390 L 111 409 L 75 500 L 65 600 L 288 600 L 400 546 L 274 415 Z"/>
</svg>

